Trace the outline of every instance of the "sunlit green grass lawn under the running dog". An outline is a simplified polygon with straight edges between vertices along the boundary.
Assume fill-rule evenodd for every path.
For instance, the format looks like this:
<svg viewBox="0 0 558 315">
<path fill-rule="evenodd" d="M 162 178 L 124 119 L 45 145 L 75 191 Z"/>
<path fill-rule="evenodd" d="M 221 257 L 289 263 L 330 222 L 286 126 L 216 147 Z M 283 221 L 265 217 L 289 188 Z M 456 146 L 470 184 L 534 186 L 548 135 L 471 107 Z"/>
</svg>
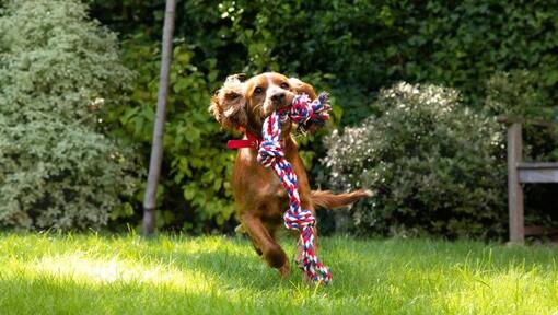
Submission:
<svg viewBox="0 0 558 315">
<path fill-rule="evenodd" d="M 283 244 L 292 256 L 294 240 Z M 558 253 L 322 238 L 332 285 L 283 281 L 243 238 L 0 234 L 0 314 L 557 314 Z"/>
</svg>

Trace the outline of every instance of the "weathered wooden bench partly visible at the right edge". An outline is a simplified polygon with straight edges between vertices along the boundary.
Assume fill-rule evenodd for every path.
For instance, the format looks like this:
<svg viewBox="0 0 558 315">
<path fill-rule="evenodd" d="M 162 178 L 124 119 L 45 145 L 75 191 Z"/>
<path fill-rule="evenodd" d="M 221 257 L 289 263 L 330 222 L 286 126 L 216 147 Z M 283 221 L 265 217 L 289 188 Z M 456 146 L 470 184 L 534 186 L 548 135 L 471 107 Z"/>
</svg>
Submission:
<svg viewBox="0 0 558 315">
<path fill-rule="evenodd" d="M 544 228 L 525 228 L 523 215 L 523 187 L 526 183 L 558 183 L 558 163 L 523 162 L 522 120 L 500 119 L 508 126 L 508 209 L 510 212 L 510 243 L 523 244 L 525 234 L 550 231 Z M 538 122 L 545 127 L 550 124 Z"/>
</svg>

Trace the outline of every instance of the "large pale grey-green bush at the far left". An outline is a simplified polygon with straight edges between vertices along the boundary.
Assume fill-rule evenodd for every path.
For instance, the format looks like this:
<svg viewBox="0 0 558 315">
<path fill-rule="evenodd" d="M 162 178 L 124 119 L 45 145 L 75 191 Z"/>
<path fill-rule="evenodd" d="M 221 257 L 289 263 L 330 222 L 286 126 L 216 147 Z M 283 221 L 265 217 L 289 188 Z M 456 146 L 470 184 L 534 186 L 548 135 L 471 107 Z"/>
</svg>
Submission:
<svg viewBox="0 0 558 315">
<path fill-rule="evenodd" d="M 80 1 L 7 1 L 0 18 L 0 225 L 89 228 L 129 215 L 132 160 L 98 110 L 130 72 Z"/>
</svg>

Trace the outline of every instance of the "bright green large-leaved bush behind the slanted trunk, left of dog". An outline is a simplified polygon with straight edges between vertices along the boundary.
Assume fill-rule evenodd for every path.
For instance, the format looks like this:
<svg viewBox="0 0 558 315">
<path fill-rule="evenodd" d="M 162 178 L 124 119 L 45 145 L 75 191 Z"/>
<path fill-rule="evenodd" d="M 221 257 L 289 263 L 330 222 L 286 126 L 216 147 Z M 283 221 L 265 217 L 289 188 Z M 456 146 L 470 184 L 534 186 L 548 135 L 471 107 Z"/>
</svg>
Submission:
<svg viewBox="0 0 558 315">
<path fill-rule="evenodd" d="M 107 121 L 115 135 L 137 143 L 149 156 L 159 89 L 160 44 L 137 36 L 124 43 L 125 63 L 136 70 L 129 102 L 114 106 Z M 233 213 L 229 176 L 236 152 L 209 114 L 211 91 L 219 88 L 216 60 L 199 66 L 191 47 L 176 39 L 164 136 L 164 159 L 158 191 L 159 228 L 210 232 Z M 140 207 L 137 207 L 139 210 Z"/>
</svg>

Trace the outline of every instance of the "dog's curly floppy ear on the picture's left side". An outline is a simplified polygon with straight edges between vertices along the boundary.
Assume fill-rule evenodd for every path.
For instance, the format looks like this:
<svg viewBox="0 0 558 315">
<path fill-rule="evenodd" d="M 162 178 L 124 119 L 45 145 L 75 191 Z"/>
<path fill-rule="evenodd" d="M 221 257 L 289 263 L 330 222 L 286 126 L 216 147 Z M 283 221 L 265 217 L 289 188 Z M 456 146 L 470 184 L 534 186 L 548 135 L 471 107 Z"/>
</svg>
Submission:
<svg viewBox="0 0 558 315">
<path fill-rule="evenodd" d="M 211 97 L 209 112 L 224 128 L 244 127 L 248 122 L 243 74 L 229 75 L 223 86 Z"/>
</svg>

